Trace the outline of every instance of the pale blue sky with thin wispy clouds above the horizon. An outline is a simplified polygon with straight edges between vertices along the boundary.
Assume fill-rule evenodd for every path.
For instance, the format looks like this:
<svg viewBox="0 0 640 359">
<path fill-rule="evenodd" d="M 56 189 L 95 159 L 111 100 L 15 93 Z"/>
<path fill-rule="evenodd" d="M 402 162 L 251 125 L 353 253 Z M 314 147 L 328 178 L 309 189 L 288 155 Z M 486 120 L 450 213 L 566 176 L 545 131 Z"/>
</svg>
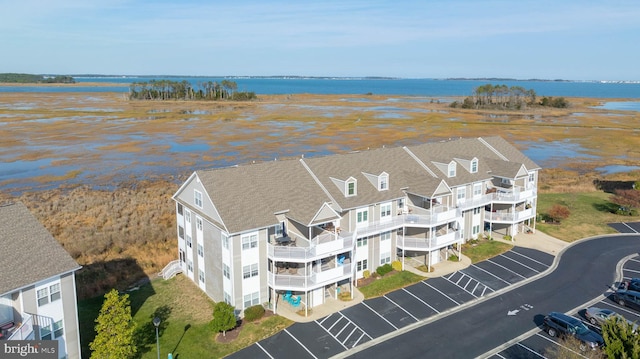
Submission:
<svg viewBox="0 0 640 359">
<path fill-rule="evenodd" d="M 637 0 L 0 0 L 0 72 L 640 80 Z"/>
</svg>

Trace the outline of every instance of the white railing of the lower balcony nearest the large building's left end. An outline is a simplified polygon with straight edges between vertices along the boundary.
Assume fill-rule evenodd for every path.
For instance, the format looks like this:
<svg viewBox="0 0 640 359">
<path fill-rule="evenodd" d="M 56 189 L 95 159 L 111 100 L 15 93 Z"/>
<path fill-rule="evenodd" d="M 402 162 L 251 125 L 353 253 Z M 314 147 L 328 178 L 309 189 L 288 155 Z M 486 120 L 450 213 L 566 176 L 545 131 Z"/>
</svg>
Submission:
<svg viewBox="0 0 640 359">
<path fill-rule="evenodd" d="M 351 263 L 345 263 L 342 266 L 319 272 L 309 270 L 310 273 L 307 275 L 304 274 L 304 268 L 300 270 L 301 274 L 268 272 L 267 283 L 270 287 L 280 290 L 312 290 L 351 277 L 352 268 Z"/>
</svg>

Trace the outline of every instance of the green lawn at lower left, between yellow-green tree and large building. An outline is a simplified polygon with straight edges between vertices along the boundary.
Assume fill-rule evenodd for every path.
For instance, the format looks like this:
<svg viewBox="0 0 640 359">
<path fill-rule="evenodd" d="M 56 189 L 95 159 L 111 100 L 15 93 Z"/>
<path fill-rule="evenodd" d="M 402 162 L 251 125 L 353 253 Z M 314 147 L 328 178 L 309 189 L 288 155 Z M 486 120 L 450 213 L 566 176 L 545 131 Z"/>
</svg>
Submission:
<svg viewBox="0 0 640 359">
<path fill-rule="evenodd" d="M 130 292 L 133 319 L 137 323 L 138 351 L 141 358 L 157 358 L 153 317 L 160 323 L 160 353 L 180 358 L 221 358 L 250 344 L 269 337 L 292 324 L 281 316 L 270 316 L 259 323 L 246 323 L 240 335 L 229 344 L 215 340 L 208 326 L 212 318 L 213 302 L 189 279 L 177 276 L 168 281 L 155 279 L 139 290 Z M 78 303 L 83 357 L 88 358 L 89 343 L 103 297 Z M 91 335 L 87 334 L 91 333 Z"/>
</svg>

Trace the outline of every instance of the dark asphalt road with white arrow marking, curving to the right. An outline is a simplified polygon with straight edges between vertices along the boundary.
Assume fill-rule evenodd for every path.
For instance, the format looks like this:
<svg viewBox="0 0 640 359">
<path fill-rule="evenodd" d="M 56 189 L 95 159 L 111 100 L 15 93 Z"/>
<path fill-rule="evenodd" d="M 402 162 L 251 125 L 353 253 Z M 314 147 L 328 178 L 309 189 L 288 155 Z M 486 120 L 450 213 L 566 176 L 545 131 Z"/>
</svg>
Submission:
<svg viewBox="0 0 640 359">
<path fill-rule="evenodd" d="M 616 280 L 618 262 L 639 249 L 640 235 L 582 241 L 568 247 L 556 258 L 557 268 L 538 280 L 411 331 L 390 333 L 337 357 L 485 357 L 494 348 L 539 327 L 548 312 L 568 312 L 602 295 Z M 510 311 L 515 315 L 508 315 Z"/>
</svg>

